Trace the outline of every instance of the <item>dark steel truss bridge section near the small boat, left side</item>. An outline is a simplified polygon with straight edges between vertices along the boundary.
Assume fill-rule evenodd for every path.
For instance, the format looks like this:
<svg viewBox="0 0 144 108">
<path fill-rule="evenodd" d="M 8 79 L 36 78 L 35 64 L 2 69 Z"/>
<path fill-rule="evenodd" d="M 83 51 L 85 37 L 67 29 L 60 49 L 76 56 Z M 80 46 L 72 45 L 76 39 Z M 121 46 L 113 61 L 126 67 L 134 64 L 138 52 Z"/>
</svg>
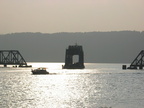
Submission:
<svg viewBox="0 0 144 108">
<path fill-rule="evenodd" d="M 19 67 L 32 67 L 27 65 L 27 62 L 18 50 L 0 50 L 0 65 L 19 65 Z"/>
</svg>

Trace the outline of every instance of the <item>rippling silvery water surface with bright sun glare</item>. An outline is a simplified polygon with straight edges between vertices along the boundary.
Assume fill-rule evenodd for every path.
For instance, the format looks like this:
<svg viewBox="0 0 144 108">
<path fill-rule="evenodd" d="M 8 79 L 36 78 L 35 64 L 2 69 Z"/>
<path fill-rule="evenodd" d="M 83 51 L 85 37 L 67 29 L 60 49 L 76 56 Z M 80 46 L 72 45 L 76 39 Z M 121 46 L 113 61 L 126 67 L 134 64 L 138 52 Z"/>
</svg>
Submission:
<svg viewBox="0 0 144 108">
<path fill-rule="evenodd" d="M 0 67 L 0 108 L 143 108 L 144 70 L 122 70 L 122 64 L 85 63 L 79 70 L 63 63 L 30 63 L 31 68 Z"/>
</svg>

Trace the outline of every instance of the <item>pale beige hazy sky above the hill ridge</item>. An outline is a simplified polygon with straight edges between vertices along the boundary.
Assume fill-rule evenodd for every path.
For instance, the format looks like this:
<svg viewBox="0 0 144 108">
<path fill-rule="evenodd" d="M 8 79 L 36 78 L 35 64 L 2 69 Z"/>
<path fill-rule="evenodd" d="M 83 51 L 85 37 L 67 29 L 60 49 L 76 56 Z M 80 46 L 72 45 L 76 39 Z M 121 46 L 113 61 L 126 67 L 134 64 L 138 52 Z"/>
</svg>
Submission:
<svg viewBox="0 0 144 108">
<path fill-rule="evenodd" d="M 144 30 L 144 0 L 0 0 L 0 34 Z"/>
</svg>

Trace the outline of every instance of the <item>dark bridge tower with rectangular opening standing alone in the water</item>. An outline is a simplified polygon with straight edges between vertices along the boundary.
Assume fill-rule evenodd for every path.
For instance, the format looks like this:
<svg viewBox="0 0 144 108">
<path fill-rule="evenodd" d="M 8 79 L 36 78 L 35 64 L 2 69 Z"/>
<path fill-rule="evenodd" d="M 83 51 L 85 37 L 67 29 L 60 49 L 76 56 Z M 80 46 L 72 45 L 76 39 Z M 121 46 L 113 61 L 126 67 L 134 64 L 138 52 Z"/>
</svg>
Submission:
<svg viewBox="0 0 144 108">
<path fill-rule="evenodd" d="M 78 62 L 73 63 L 73 56 L 78 55 Z M 66 49 L 65 54 L 65 65 L 63 69 L 83 69 L 84 66 L 84 53 L 82 46 L 78 46 L 77 44 L 74 46 L 69 46 Z"/>
</svg>

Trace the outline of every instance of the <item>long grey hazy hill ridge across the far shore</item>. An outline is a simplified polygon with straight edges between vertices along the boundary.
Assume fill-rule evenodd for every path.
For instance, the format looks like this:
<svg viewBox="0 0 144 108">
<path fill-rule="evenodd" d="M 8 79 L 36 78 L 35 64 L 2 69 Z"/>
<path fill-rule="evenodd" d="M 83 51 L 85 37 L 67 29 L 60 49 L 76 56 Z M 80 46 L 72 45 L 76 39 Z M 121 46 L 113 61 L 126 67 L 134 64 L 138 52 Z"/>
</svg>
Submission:
<svg viewBox="0 0 144 108">
<path fill-rule="evenodd" d="M 0 50 L 19 50 L 27 61 L 64 62 L 65 49 L 75 43 L 83 46 L 85 62 L 132 62 L 144 49 L 144 32 L 0 35 Z"/>
</svg>

